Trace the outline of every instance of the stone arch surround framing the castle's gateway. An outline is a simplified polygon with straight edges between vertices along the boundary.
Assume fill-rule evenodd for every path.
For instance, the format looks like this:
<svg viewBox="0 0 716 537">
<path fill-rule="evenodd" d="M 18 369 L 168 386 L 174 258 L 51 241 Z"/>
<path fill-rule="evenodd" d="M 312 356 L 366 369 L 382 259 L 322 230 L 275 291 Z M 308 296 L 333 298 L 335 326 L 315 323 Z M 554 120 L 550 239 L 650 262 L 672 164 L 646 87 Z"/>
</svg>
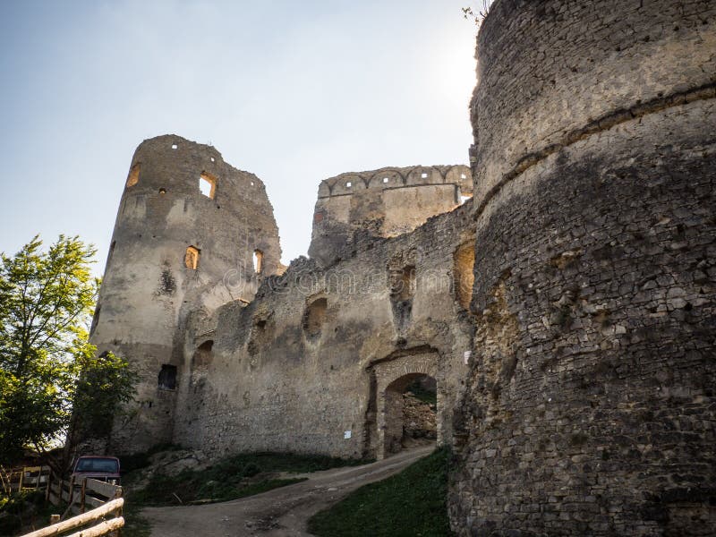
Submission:
<svg viewBox="0 0 716 537">
<path fill-rule="evenodd" d="M 402 396 L 415 379 L 431 377 L 438 379 L 438 353 L 434 351 L 416 354 L 402 354 L 371 365 L 375 388 L 375 444 L 376 458 L 383 459 L 390 454 L 390 447 L 402 437 Z M 438 381 L 438 414 L 440 412 L 440 386 Z M 400 397 L 400 399 L 398 399 Z M 438 420 L 438 443 L 442 430 Z"/>
</svg>

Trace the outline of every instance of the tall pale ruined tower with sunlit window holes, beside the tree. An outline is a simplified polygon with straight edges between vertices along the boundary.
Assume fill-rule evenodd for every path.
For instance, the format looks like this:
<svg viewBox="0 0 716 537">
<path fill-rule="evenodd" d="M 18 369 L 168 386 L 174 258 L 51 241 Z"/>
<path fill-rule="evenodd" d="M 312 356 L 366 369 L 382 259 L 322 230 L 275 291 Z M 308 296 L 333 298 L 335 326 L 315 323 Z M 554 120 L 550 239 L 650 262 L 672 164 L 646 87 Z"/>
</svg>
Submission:
<svg viewBox="0 0 716 537">
<path fill-rule="evenodd" d="M 115 422 L 116 452 L 172 440 L 190 311 L 249 302 L 276 274 L 280 246 L 263 183 L 214 148 L 179 136 L 143 141 L 124 187 L 90 333 L 98 352 L 141 375 L 131 412 Z"/>
</svg>

